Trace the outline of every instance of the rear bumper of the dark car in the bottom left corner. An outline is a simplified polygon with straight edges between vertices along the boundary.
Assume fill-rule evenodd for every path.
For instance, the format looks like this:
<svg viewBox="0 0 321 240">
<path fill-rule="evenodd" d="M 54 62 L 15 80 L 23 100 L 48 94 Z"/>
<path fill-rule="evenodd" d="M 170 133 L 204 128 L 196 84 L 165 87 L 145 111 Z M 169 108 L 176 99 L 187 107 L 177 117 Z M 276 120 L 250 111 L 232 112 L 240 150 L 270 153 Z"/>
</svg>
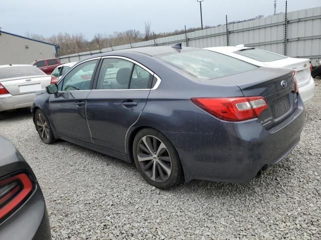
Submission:
<svg viewBox="0 0 321 240">
<path fill-rule="evenodd" d="M 0 224 L 0 239 L 51 239 L 45 199 L 38 184 L 24 205 Z"/>
</svg>

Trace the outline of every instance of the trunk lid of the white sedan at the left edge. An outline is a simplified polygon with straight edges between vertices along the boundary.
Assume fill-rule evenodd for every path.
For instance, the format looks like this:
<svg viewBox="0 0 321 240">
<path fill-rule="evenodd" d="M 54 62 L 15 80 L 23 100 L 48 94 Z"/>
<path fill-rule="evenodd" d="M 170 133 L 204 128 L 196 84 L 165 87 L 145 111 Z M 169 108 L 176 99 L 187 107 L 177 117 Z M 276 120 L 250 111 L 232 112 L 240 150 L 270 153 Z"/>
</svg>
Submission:
<svg viewBox="0 0 321 240">
<path fill-rule="evenodd" d="M 48 86 L 51 82 L 50 75 L 23 76 L 0 79 L 1 84 L 6 87 L 12 95 L 20 95 L 36 92 Z"/>
</svg>

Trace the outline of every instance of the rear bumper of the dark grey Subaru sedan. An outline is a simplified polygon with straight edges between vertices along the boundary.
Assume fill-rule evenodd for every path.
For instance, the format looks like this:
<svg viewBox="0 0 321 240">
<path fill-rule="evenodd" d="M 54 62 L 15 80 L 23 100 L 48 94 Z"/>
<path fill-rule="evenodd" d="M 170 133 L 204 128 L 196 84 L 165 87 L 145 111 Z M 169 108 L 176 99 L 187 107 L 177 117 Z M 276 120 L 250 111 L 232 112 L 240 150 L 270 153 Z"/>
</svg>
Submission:
<svg viewBox="0 0 321 240">
<path fill-rule="evenodd" d="M 257 119 L 221 121 L 214 134 L 164 132 L 176 147 L 186 181 L 246 183 L 263 167 L 284 158 L 297 144 L 304 125 L 304 105 L 276 126 L 265 129 Z"/>
</svg>

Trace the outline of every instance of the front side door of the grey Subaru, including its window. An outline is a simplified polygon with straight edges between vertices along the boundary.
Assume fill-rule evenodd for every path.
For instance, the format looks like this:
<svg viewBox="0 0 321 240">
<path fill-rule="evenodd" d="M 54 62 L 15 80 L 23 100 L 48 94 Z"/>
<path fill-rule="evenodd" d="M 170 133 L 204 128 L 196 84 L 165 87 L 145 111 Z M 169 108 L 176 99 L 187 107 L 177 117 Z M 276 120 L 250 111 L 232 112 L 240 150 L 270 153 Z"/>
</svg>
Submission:
<svg viewBox="0 0 321 240">
<path fill-rule="evenodd" d="M 86 116 L 86 98 L 92 88 L 99 59 L 74 67 L 58 83 L 58 93 L 49 98 L 49 109 L 57 133 L 91 142 Z"/>
</svg>

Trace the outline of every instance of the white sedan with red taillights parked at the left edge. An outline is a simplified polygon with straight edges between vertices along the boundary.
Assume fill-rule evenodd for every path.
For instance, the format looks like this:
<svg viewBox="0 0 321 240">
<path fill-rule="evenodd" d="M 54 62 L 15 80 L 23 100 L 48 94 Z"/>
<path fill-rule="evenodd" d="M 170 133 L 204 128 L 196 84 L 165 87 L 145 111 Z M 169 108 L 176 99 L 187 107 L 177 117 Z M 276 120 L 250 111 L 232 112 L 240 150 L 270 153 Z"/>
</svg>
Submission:
<svg viewBox="0 0 321 240">
<path fill-rule="evenodd" d="M 35 92 L 55 82 L 33 65 L 0 65 L 0 111 L 32 105 Z"/>
</svg>

